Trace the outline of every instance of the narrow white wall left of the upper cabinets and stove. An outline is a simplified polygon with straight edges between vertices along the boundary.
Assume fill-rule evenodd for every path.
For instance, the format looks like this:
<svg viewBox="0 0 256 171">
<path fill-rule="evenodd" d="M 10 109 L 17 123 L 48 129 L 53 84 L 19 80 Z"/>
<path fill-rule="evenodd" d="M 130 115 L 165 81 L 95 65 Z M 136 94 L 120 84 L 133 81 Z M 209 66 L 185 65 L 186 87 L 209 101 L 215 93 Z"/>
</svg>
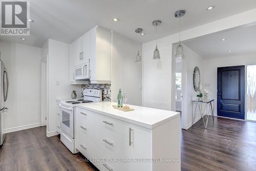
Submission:
<svg viewBox="0 0 256 171">
<path fill-rule="evenodd" d="M 47 42 L 46 42 L 47 44 Z M 56 135 L 56 98 L 71 98 L 72 90 L 80 97 L 81 86 L 69 84 L 69 44 L 48 40 L 48 126 L 47 136 Z M 59 86 L 56 86 L 59 81 Z"/>
</svg>

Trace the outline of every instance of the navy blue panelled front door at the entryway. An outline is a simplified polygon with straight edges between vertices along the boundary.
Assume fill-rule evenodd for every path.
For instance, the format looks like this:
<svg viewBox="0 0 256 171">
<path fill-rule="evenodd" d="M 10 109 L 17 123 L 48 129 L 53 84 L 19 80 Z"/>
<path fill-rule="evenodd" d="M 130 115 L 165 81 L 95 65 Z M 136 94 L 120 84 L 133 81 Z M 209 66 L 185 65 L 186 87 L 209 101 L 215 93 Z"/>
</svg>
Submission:
<svg viewBox="0 0 256 171">
<path fill-rule="evenodd" d="M 218 68 L 218 116 L 244 119 L 245 66 Z"/>
</svg>

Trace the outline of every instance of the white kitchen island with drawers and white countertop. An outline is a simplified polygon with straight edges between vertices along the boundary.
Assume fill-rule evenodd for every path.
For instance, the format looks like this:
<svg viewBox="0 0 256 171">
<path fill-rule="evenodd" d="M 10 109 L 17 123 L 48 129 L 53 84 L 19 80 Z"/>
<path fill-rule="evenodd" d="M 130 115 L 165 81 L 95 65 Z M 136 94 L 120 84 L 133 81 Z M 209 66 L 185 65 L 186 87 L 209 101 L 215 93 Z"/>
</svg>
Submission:
<svg viewBox="0 0 256 171">
<path fill-rule="evenodd" d="M 78 104 L 75 148 L 99 170 L 180 170 L 180 113 L 113 102 Z"/>
</svg>

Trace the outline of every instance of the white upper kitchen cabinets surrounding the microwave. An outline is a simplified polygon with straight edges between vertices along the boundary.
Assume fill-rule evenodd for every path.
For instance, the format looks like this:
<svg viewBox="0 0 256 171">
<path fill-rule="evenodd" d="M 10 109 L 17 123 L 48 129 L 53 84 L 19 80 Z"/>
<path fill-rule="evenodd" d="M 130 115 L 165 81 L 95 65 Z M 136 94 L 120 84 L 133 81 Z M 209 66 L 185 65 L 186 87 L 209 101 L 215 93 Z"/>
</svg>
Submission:
<svg viewBox="0 0 256 171">
<path fill-rule="evenodd" d="M 69 82 L 75 80 L 75 66 L 90 63 L 91 83 L 111 83 L 112 31 L 96 26 L 70 44 Z"/>
</svg>

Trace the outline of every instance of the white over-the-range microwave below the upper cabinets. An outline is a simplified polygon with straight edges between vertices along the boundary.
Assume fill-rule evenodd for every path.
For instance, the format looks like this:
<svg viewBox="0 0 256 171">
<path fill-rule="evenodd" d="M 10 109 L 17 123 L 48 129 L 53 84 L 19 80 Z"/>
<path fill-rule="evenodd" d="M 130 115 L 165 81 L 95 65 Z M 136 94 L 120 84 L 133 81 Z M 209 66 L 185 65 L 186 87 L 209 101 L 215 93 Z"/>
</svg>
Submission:
<svg viewBox="0 0 256 171">
<path fill-rule="evenodd" d="M 75 66 L 75 80 L 90 79 L 89 62 Z"/>
</svg>

